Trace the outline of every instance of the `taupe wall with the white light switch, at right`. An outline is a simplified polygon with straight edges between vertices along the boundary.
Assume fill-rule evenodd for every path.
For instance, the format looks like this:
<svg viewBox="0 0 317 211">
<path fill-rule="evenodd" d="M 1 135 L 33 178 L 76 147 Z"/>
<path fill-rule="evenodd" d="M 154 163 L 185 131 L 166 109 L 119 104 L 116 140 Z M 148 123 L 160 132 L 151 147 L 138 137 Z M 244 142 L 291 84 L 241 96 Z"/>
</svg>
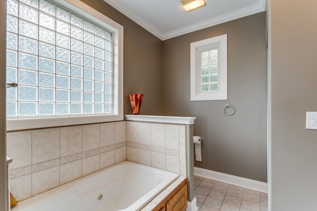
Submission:
<svg viewBox="0 0 317 211">
<path fill-rule="evenodd" d="M 271 211 L 317 211 L 317 1 L 269 0 Z"/>
</svg>

